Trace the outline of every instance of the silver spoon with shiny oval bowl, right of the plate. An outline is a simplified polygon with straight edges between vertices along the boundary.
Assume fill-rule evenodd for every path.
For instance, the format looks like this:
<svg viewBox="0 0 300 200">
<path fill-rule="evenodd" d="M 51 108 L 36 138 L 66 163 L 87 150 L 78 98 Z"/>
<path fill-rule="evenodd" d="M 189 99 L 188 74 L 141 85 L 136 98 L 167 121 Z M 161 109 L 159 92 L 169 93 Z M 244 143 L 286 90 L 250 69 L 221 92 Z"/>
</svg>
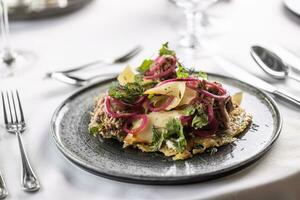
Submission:
<svg viewBox="0 0 300 200">
<path fill-rule="evenodd" d="M 261 46 L 252 46 L 250 53 L 255 62 L 273 78 L 280 80 L 291 78 L 300 82 L 300 77 L 292 73 L 291 66 L 283 62 L 274 52 Z"/>
</svg>

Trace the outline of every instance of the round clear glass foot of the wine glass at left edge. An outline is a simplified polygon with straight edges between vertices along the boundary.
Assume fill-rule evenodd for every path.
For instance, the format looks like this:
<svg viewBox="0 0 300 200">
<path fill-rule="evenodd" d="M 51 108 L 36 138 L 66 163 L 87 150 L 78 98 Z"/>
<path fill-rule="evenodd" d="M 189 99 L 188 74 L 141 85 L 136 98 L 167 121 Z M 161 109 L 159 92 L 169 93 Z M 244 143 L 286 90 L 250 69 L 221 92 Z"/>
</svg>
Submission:
<svg viewBox="0 0 300 200">
<path fill-rule="evenodd" d="M 4 52 L 0 53 L 3 58 Z M 14 50 L 12 52 L 13 59 L 10 61 L 0 60 L 0 78 L 18 76 L 30 71 L 36 62 L 36 55 L 21 50 Z"/>
</svg>

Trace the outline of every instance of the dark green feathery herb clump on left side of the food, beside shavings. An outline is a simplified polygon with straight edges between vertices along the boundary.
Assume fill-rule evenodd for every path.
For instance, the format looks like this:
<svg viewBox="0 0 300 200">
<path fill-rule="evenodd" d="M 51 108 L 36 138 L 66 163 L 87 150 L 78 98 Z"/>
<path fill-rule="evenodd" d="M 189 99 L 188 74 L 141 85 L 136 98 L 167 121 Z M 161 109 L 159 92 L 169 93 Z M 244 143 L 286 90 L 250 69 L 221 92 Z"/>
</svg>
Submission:
<svg viewBox="0 0 300 200">
<path fill-rule="evenodd" d="M 144 88 L 137 82 L 127 83 L 126 85 L 116 85 L 109 89 L 109 96 L 122 101 L 132 103 L 137 97 L 141 96 Z"/>
</svg>

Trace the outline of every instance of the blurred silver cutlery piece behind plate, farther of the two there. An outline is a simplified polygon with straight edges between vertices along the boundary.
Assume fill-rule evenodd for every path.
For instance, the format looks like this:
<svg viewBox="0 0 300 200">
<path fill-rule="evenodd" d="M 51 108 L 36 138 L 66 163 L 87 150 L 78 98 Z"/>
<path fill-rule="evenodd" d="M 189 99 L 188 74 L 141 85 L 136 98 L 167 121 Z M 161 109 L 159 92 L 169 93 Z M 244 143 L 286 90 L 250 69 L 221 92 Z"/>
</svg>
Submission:
<svg viewBox="0 0 300 200">
<path fill-rule="evenodd" d="M 60 71 L 54 71 L 54 72 L 49 72 L 46 74 L 47 77 L 52 78 L 52 75 L 54 73 L 71 73 L 71 72 L 75 72 L 75 71 L 79 71 L 82 69 L 86 69 L 89 68 L 91 66 L 97 65 L 97 64 L 102 64 L 102 65 L 112 65 L 112 64 L 118 64 L 118 63 L 124 63 L 128 60 L 130 60 L 132 57 L 134 57 L 135 55 L 137 55 L 140 51 L 142 50 L 141 46 L 136 46 L 135 48 L 133 48 L 132 50 L 130 50 L 128 53 L 119 56 L 117 58 L 111 58 L 111 59 L 102 59 L 102 60 L 96 60 L 84 65 L 80 65 L 77 67 L 73 67 L 73 68 L 69 68 L 67 70 L 60 70 Z"/>
</svg>

